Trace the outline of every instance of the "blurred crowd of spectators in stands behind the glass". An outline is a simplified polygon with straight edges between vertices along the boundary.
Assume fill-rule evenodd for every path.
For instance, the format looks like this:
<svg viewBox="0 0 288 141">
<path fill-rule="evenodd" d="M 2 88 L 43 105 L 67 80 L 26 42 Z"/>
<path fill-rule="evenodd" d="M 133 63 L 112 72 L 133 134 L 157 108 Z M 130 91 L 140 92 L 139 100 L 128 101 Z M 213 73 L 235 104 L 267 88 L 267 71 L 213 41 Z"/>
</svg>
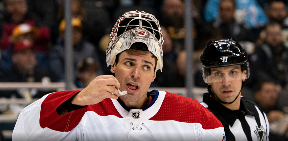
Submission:
<svg viewBox="0 0 288 141">
<path fill-rule="evenodd" d="M 63 0 L 0 1 L 0 82 L 64 82 L 63 5 Z M 206 87 L 200 63 L 206 43 L 234 38 L 249 54 L 243 95 L 270 112 L 269 121 L 283 119 L 288 112 L 288 0 L 198 0 L 191 7 L 195 86 Z M 155 15 L 163 33 L 163 72 L 157 72 L 151 87 L 185 87 L 183 0 L 71 0 L 76 87 L 85 88 L 98 75 L 113 75 L 105 57 L 111 28 L 118 16 L 135 10 Z M 3 91 L 0 96 L 26 93 Z M 28 93 L 39 98 L 47 92 Z"/>
</svg>

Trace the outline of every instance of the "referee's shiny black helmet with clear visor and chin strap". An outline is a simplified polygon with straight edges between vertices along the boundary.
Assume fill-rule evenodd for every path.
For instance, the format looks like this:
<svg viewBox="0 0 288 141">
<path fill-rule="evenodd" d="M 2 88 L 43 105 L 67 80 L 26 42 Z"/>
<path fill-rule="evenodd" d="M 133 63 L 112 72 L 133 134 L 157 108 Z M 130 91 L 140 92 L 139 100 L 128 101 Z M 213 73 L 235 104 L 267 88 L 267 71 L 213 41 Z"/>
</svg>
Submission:
<svg viewBox="0 0 288 141">
<path fill-rule="evenodd" d="M 247 62 L 247 59 L 248 57 L 246 51 L 240 46 L 240 44 L 236 40 L 232 38 L 220 39 L 216 41 L 211 40 L 206 45 L 204 52 L 200 57 L 202 64 L 202 76 L 205 83 L 207 83 L 208 92 L 214 97 L 214 94 L 211 91 L 211 85 L 208 85 L 209 83 L 248 79 L 249 63 Z M 228 75 L 224 75 L 225 72 L 220 71 L 215 72 L 215 74 L 211 74 L 211 68 L 234 65 L 240 65 L 242 73 L 229 72 Z M 242 82 L 242 88 L 244 84 L 245 81 Z M 234 99 L 234 101 L 238 98 L 239 94 Z M 215 99 L 224 104 L 231 104 L 234 102 L 224 102 L 220 99 Z"/>
</svg>

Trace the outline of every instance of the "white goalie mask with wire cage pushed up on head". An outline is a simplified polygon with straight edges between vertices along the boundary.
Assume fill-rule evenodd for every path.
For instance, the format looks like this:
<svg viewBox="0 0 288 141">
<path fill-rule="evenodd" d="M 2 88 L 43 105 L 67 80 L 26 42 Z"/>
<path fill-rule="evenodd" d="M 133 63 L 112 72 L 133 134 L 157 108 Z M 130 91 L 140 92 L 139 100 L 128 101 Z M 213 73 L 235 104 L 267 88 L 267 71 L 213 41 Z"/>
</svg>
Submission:
<svg viewBox="0 0 288 141">
<path fill-rule="evenodd" d="M 144 43 L 147 49 L 157 57 L 156 70 L 162 72 L 163 37 L 159 21 L 154 15 L 144 11 L 130 11 L 119 17 L 112 28 L 106 51 L 107 66 L 114 65 L 116 55 L 128 50 L 133 43 Z M 138 49 L 143 50 L 143 49 Z"/>
</svg>

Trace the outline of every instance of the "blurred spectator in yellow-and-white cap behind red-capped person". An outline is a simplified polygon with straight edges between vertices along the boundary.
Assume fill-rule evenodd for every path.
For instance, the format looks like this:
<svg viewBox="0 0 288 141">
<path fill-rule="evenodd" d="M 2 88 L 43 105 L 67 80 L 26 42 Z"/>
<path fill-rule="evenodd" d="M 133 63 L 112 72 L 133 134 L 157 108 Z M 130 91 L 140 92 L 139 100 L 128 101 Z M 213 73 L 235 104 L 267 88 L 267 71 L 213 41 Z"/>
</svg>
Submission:
<svg viewBox="0 0 288 141">
<path fill-rule="evenodd" d="M 36 39 L 39 38 L 39 28 L 31 26 L 29 24 L 19 24 L 12 30 L 12 34 L 9 37 L 12 45 L 7 50 L 2 51 L 2 61 L 0 62 L 0 67 L 2 71 L 6 71 L 12 67 L 12 50 L 16 43 L 22 42 L 23 40 L 30 41 L 34 46 L 36 59 L 38 65 L 45 69 L 49 69 L 49 63 L 47 58 L 48 52 L 43 52 L 42 45 L 37 44 Z M 39 40 L 38 40 L 39 41 Z M 42 40 L 43 41 L 43 40 Z M 43 41 L 45 43 L 45 40 Z M 35 45 L 36 44 L 36 45 Z M 47 45 L 45 45 L 47 46 Z"/>
</svg>

